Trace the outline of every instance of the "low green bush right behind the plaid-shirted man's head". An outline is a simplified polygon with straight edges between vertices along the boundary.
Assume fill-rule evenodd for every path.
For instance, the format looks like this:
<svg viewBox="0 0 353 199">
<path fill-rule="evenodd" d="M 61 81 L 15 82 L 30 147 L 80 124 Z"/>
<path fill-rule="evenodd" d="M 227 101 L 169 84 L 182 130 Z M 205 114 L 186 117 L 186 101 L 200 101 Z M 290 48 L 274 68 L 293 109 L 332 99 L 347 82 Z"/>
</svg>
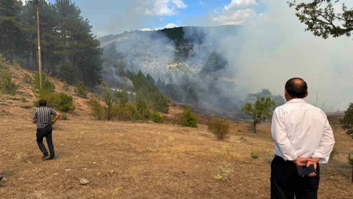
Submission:
<svg viewBox="0 0 353 199">
<path fill-rule="evenodd" d="M 66 95 L 65 93 L 51 93 L 45 90 L 40 91 L 39 96 L 37 96 L 39 100 L 46 100 L 46 106 L 57 109 L 63 112 L 70 112 L 75 110 L 75 106 L 73 105 L 72 96 Z M 39 100 L 35 101 L 35 106 L 39 106 Z"/>
</svg>

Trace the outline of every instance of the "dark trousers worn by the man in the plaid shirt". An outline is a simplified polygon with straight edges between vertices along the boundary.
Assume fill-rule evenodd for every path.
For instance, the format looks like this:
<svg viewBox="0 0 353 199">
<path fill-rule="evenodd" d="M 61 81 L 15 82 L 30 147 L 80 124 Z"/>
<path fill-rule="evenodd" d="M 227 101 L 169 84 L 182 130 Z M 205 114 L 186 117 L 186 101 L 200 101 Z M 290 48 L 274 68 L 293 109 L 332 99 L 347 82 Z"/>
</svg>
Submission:
<svg viewBox="0 0 353 199">
<path fill-rule="evenodd" d="M 36 134 L 37 144 L 38 144 L 40 151 L 44 155 L 48 155 L 48 151 L 46 150 L 46 148 L 43 144 L 43 138 L 45 137 L 46 143 L 48 144 L 50 156 L 55 156 L 53 140 L 51 138 L 52 132 L 53 132 L 53 129 L 51 128 L 51 125 L 48 125 L 42 129 L 37 129 L 37 134 Z"/>
</svg>

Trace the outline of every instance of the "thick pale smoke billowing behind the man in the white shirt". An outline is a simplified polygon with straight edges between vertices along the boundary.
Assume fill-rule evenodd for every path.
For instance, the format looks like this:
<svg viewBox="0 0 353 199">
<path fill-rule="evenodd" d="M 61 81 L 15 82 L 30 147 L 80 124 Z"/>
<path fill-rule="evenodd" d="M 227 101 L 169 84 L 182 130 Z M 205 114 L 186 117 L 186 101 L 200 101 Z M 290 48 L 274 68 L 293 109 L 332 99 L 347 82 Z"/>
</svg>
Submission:
<svg viewBox="0 0 353 199">
<path fill-rule="evenodd" d="M 283 94 L 288 79 L 302 77 L 309 87 L 307 102 L 315 103 L 315 91 L 321 91 L 319 107 L 346 110 L 353 102 L 352 38 L 315 37 L 284 1 L 263 3 L 264 12 L 221 45 L 230 67 L 238 70 L 238 88 L 256 92 L 266 87 Z"/>
</svg>

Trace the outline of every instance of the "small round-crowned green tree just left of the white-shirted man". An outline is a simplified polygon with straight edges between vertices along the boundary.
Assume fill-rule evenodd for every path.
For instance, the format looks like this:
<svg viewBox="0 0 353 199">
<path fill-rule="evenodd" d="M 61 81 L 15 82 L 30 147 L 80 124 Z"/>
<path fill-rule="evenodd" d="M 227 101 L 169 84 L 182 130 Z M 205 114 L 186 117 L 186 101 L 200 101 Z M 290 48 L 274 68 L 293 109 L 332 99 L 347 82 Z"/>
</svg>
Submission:
<svg viewBox="0 0 353 199">
<path fill-rule="evenodd" d="M 253 120 L 254 133 L 256 133 L 256 125 L 272 117 L 276 102 L 268 98 L 258 98 L 255 103 L 247 102 L 241 110 L 249 115 Z"/>
</svg>

